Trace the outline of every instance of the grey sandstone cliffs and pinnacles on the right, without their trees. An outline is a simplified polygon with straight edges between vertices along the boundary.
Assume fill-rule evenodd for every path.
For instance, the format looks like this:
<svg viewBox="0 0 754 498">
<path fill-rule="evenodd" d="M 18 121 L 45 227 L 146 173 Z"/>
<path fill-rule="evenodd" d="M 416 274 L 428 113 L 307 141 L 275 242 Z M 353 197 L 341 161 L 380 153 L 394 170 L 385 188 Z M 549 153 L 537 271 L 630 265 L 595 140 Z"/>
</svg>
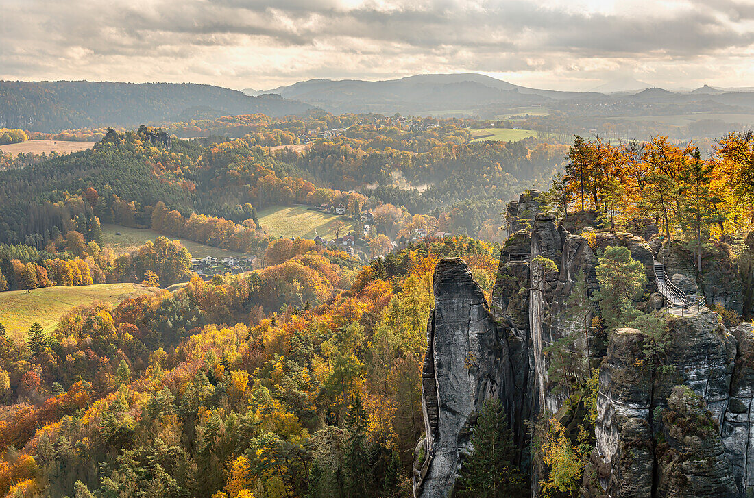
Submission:
<svg viewBox="0 0 754 498">
<path fill-rule="evenodd" d="M 542 212 L 538 199 L 529 191 L 508 206 L 511 232 L 501 249 L 490 306 L 461 260 L 437 264 L 422 377 L 426 437 L 416 449 L 415 496 L 452 492 L 463 456 L 472 449 L 475 412 L 490 396 L 506 408 L 520 463 L 532 461 L 528 424 L 545 409 L 562 413 L 566 402 L 548 378 L 544 350 L 571 334 L 573 325 L 564 317 L 576 279 L 584 275 L 588 295 L 598 289 L 597 254 L 606 247 L 627 247 L 644 265 L 642 309 L 663 306 L 654 280 L 656 258 L 664 258 L 669 276 L 679 275 L 676 282 L 689 290 L 698 285 L 708 302 L 743 308 L 741 280 L 730 277 L 731 260 L 722 246 L 716 253 L 722 261 L 710 274 L 729 281 L 696 280 L 682 251 L 662 246 L 654 230 L 642 231 L 642 237 L 593 228 L 572 234 Z M 548 270 L 541 258 L 552 260 L 556 270 Z M 575 340 L 570 353 L 588 353 L 592 367 L 599 368 L 596 445 L 582 496 L 754 493 L 754 329 L 744 323 L 728 331 L 722 323 L 706 308 L 667 317 L 669 346 L 661 362 L 652 364 L 647 331 L 619 328 L 608 338 L 590 329 Z M 538 496 L 539 477 L 547 469 L 535 460 L 531 472 L 532 496 Z"/>
</svg>

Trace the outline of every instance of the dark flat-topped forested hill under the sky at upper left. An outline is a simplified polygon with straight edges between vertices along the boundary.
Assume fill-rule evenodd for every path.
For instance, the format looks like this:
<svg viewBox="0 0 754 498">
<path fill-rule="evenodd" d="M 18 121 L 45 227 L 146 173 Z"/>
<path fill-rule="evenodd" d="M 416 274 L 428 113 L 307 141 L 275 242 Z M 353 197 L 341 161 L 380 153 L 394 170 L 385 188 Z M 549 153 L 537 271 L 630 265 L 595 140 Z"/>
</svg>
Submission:
<svg viewBox="0 0 754 498">
<path fill-rule="evenodd" d="M 310 108 L 204 84 L 0 81 L 0 127 L 43 132 L 252 113 L 284 116 Z"/>
</svg>

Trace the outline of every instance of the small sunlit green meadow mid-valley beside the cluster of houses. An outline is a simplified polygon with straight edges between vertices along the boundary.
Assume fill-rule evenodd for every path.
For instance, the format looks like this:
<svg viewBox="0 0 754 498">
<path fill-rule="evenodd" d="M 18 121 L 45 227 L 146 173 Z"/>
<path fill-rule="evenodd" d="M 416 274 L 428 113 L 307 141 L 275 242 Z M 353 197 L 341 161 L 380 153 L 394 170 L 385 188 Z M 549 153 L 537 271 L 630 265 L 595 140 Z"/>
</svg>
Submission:
<svg viewBox="0 0 754 498">
<path fill-rule="evenodd" d="M 319 235 L 333 239 L 335 238 L 333 223 L 336 220 L 345 223 L 345 233 L 354 229 L 354 220 L 350 218 L 311 211 L 302 206 L 273 206 L 262 209 L 257 214 L 259 223 L 268 234 L 274 237 L 314 239 L 316 235 Z"/>
</svg>

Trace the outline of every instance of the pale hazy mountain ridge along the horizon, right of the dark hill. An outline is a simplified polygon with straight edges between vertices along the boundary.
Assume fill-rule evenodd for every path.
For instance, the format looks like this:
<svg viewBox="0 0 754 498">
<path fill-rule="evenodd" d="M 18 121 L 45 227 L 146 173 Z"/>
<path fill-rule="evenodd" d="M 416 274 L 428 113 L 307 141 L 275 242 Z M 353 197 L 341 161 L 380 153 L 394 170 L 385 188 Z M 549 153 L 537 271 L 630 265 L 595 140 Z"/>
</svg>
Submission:
<svg viewBox="0 0 754 498">
<path fill-rule="evenodd" d="M 749 89 L 670 91 L 631 77 L 605 82 L 588 92 L 565 92 L 523 87 L 477 73 L 415 75 L 394 80 L 313 79 L 273 88 L 244 90 L 250 95 L 274 94 L 284 99 L 306 102 L 333 114 L 375 112 L 392 115 L 474 116 L 486 118 L 510 112 L 534 112 L 536 107 L 572 108 L 615 105 L 626 102 L 740 107 L 754 111 L 754 93 Z M 730 110 L 730 109 L 729 109 Z"/>
</svg>

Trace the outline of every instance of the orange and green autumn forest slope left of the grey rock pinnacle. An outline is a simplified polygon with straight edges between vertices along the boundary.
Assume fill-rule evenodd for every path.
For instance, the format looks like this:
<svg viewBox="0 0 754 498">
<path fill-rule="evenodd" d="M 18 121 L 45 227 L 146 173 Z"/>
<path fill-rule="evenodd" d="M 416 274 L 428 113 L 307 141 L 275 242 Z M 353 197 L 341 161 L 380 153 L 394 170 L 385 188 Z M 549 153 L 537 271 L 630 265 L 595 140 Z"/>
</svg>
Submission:
<svg viewBox="0 0 754 498">
<path fill-rule="evenodd" d="M 492 285 L 495 255 L 470 239 L 366 267 L 320 246 L 73 310 L 28 341 L 0 328 L 0 396 L 16 403 L 0 419 L 0 493 L 410 496 L 431 272 L 445 255 Z"/>
</svg>

